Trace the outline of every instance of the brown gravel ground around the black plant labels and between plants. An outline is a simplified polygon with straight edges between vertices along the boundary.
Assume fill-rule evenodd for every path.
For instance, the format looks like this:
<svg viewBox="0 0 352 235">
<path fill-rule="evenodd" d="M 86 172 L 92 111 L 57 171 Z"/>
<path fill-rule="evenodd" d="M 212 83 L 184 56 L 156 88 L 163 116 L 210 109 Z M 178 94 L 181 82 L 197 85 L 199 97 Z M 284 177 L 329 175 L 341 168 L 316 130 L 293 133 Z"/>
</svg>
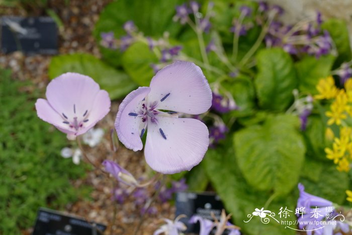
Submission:
<svg viewBox="0 0 352 235">
<path fill-rule="evenodd" d="M 49 2 L 49 7 L 56 12 L 64 23 L 64 33 L 59 36 L 59 54 L 86 52 L 100 57 L 92 31 L 99 18 L 99 13 L 110 1 L 71 0 L 67 6 L 63 2 Z M 42 13 L 43 11 L 40 9 L 30 11 L 30 14 L 28 14 L 28 11 L 21 8 L 0 7 L 0 15 L 32 16 Z M 0 53 L 0 66 L 11 68 L 14 79 L 31 80 L 34 86 L 41 89 L 44 94 L 46 85 L 49 82 L 47 72 L 50 59 L 51 56 L 47 55 L 26 56 L 21 52 L 6 55 Z M 34 89 L 34 87 L 26 89 Z M 99 127 L 105 130 L 113 128 L 118 105 L 118 102 L 112 103 L 112 111 L 98 124 Z M 117 152 L 113 152 L 110 149 L 109 131 L 106 131 L 103 141 L 97 147 L 85 147 L 87 155 L 96 165 L 101 165 L 105 159 L 115 160 L 133 175 L 146 178 L 147 173 L 145 172 L 145 161 L 142 152 L 133 152 L 121 145 L 118 147 Z M 108 225 L 105 234 L 133 234 L 140 221 L 140 207 L 135 205 L 132 198 L 127 199 L 123 204 L 113 201 L 112 189 L 114 182 L 112 178 L 106 177 L 100 170 L 92 170 L 87 174 L 86 179 L 72 182 L 77 187 L 82 184 L 91 185 L 94 190 L 90 201 L 81 200 L 74 204 L 66 205 L 66 212 Z M 153 187 L 150 186 L 148 190 L 152 192 Z M 158 212 L 155 215 L 148 215 L 144 219 L 139 234 L 151 234 L 160 225 L 158 218 L 173 218 L 175 209 L 168 202 L 159 203 L 156 208 Z M 116 218 L 115 222 L 114 216 Z M 30 232 L 31 229 L 23 231 L 24 234 L 30 234 Z"/>
</svg>

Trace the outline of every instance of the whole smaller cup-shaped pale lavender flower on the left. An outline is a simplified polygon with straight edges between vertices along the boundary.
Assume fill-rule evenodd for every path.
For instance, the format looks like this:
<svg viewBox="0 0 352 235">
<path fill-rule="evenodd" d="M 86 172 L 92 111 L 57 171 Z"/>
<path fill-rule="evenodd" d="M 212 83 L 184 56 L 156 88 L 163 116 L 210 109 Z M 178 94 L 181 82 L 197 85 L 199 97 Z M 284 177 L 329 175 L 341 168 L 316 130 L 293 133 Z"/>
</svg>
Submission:
<svg viewBox="0 0 352 235">
<path fill-rule="evenodd" d="M 75 139 L 84 134 L 110 111 L 109 94 L 89 76 L 67 72 L 53 79 L 46 88 L 46 98 L 35 107 L 43 121 L 54 125 Z"/>
</svg>

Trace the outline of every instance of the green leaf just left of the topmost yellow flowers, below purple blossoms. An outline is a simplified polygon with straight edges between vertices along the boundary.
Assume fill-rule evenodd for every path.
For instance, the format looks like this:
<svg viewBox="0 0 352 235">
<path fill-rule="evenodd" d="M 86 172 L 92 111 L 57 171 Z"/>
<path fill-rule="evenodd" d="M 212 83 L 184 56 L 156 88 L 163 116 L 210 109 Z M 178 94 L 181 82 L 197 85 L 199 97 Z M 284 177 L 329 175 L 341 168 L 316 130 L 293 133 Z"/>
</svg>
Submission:
<svg viewBox="0 0 352 235">
<path fill-rule="evenodd" d="M 334 59 L 333 55 L 321 56 L 319 59 L 314 56 L 307 56 L 297 62 L 295 65 L 299 80 L 299 90 L 317 94 L 315 87 L 320 79 L 330 74 Z"/>
</svg>

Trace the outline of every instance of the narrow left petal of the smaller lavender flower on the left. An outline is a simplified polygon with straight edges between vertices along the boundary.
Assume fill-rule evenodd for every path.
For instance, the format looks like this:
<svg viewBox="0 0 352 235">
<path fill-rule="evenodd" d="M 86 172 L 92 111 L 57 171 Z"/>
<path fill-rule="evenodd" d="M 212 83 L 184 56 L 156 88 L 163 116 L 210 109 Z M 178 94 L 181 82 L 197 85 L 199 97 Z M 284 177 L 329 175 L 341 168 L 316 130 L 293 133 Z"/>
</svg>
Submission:
<svg viewBox="0 0 352 235">
<path fill-rule="evenodd" d="M 63 123 L 62 117 L 50 106 L 49 102 L 44 99 L 38 99 L 35 103 L 37 115 L 40 119 L 56 126 L 62 132 L 72 133 L 66 124 Z"/>
</svg>

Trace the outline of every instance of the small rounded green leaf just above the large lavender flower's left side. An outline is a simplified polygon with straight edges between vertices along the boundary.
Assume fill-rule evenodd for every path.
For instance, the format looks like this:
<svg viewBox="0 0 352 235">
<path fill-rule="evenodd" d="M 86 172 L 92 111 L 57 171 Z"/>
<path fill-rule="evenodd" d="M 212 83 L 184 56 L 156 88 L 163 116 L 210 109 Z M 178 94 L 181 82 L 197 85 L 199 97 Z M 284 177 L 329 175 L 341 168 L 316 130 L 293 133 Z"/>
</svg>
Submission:
<svg viewBox="0 0 352 235">
<path fill-rule="evenodd" d="M 158 58 L 148 45 L 138 42 L 130 46 L 122 57 L 122 65 L 132 80 L 139 86 L 149 86 L 154 76 L 152 63 L 156 63 Z"/>
</svg>

